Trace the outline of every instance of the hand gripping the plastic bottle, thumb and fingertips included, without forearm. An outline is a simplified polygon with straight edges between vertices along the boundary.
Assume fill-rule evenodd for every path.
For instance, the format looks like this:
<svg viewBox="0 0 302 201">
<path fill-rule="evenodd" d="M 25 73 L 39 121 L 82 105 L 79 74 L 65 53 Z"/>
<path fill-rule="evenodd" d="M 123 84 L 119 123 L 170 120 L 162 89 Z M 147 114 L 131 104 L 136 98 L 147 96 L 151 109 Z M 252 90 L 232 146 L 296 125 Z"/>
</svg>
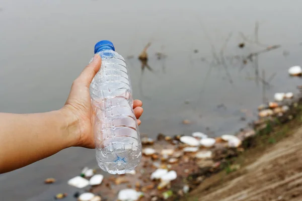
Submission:
<svg viewBox="0 0 302 201">
<path fill-rule="evenodd" d="M 101 57 L 96 54 L 92 62 L 73 81 L 65 106 L 61 109 L 67 118 L 71 118 L 71 121 L 68 121 L 68 136 L 74 138 L 72 146 L 95 148 L 93 134 L 94 115 L 89 86 L 99 71 L 101 63 Z M 138 118 L 143 112 L 141 106 L 142 102 L 140 100 L 134 100 L 133 109 L 138 125 L 141 123 Z"/>
</svg>

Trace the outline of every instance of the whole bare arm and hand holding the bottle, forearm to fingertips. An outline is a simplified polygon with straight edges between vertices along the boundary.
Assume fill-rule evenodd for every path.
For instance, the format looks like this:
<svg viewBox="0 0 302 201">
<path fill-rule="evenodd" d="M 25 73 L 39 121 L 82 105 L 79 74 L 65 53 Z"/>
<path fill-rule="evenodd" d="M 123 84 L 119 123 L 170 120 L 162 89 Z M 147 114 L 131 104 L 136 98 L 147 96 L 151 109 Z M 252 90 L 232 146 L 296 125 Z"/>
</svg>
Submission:
<svg viewBox="0 0 302 201">
<path fill-rule="evenodd" d="M 95 148 L 89 85 L 101 67 L 98 54 L 72 83 L 65 105 L 57 111 L 37 114 L 0 113 L 0 173 L 9 172 L 62 149 Z M 142 102 L 134 100 L 138 125 Z"/>
</svg>

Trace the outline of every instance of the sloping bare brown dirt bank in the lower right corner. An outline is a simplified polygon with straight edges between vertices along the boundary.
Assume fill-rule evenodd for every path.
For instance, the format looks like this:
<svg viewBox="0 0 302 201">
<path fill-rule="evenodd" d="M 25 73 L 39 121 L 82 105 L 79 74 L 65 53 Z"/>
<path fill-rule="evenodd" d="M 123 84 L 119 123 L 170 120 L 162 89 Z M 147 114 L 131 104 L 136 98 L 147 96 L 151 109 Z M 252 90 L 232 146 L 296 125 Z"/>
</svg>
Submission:
<svg viewBox="0 0 302 201">
<path fill-rule="evenodd" d="M 256 147 L 206 178 L 185 200 L 302 200 L 301 117 L 259 138 Z"/>
</svg>

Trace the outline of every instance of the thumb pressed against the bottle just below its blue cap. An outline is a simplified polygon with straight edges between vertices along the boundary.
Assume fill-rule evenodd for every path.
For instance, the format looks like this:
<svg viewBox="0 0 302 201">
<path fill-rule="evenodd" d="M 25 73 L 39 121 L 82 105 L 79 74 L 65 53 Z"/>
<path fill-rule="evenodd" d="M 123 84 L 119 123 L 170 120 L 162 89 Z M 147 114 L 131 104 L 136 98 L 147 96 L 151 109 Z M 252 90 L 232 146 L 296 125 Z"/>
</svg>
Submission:
<svg viewBox="0 0 302 201">
<path fill-rule="evenodd" d="M 92 79 L 100 70 L 102 59 L 99 54 L 95 54 L 92 61 L 84 68 L 77 80 L 89 87 Z"/>
</svg>

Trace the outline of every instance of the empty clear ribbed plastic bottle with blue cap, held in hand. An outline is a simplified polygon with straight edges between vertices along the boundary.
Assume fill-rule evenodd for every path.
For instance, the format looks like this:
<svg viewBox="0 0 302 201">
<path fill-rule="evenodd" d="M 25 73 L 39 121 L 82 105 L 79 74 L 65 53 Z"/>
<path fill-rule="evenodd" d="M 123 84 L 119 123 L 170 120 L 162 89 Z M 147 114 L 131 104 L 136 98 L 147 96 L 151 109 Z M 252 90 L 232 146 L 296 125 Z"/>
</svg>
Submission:
<svg viewBox="0 0 302 201">
<path fill-rule="evenodd" d="M 96 158 L 104 171 L 124 174 L 134 170 L 141 159 L 128 68 L 110 41 L 98 42 L 95 53 L 102 58 L 101 69 L 90 84 Z"/>
</svg>

